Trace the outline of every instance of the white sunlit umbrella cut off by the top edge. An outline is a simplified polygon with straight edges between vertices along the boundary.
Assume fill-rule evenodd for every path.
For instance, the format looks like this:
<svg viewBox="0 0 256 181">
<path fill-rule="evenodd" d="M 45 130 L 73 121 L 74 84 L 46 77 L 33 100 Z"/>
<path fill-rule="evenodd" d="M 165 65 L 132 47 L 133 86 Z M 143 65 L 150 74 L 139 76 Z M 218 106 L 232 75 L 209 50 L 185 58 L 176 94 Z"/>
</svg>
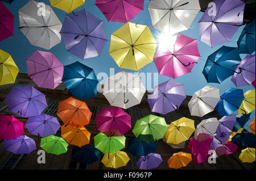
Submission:
<svg viewBox="0 0 256 181">
<path fill-rule="evenodd" d="M 170 34 L 188 30 L 200 10 L 199 0 L 154 0 L 148 5 L 152 26 Z"/>
</svg>

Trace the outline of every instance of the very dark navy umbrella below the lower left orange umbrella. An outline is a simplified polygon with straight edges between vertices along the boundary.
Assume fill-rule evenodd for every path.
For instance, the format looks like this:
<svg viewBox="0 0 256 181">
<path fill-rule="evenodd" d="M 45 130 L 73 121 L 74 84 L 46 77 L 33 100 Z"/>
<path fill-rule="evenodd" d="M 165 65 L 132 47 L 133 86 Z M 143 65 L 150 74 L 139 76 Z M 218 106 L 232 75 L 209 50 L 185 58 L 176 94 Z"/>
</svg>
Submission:
<svg viewBox="0 0 256 181">
<path fill-rule="evenodd" d="M 75 146 L 72 151 L 73 158 L 84 164 L 91 164 L 98 161 L 101 154 L 93 145 Z"/>
</svg>

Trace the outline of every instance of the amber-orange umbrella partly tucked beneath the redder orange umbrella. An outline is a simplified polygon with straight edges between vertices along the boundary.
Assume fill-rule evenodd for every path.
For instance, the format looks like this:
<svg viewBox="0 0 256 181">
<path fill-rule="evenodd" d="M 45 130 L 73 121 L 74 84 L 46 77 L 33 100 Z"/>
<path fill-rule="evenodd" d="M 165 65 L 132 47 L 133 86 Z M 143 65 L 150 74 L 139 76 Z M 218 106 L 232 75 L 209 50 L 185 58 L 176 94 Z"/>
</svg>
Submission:
<svg viewBox="0 0 256 181">
<path fill-rule="evenodd" d="M 90 142 L 90 132 L 85 127 L 75 127 L 75 125 L 62 125 L 61 137 L 69 145 L 84 146 Z"/>
</svg>

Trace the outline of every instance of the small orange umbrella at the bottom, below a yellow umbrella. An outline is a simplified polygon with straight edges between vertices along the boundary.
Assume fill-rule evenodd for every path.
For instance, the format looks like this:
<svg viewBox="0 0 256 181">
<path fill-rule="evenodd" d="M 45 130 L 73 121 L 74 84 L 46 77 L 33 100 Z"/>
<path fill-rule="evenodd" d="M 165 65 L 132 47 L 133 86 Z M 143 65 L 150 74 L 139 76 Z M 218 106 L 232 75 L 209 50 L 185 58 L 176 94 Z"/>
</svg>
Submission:
<svg viewBox="0 0 256 181">
<path fill-rule="evenodd" d="M 189 162 L 192 161 L 191 154 L 179 152 L 174 153 L 167 161 L 170 168 L 179 169 L 180 167 L 185 167 Z"/>
</svg>

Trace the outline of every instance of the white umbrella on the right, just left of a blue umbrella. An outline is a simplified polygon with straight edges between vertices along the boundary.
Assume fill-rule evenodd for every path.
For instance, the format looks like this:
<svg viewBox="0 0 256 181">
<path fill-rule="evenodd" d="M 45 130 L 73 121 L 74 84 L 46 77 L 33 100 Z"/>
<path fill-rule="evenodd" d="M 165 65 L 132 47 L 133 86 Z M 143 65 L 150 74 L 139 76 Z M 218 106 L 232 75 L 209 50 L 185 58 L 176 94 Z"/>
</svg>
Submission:
<svg viewBox="0 0 256 181">
<path fill-rule="evenodd" d="M 220 101 L 220 89 L 212 86 L 205 86 L 196 91 L 188 103 L 191 116 L 203 117 L 212 112 Z"/>
</svg>

